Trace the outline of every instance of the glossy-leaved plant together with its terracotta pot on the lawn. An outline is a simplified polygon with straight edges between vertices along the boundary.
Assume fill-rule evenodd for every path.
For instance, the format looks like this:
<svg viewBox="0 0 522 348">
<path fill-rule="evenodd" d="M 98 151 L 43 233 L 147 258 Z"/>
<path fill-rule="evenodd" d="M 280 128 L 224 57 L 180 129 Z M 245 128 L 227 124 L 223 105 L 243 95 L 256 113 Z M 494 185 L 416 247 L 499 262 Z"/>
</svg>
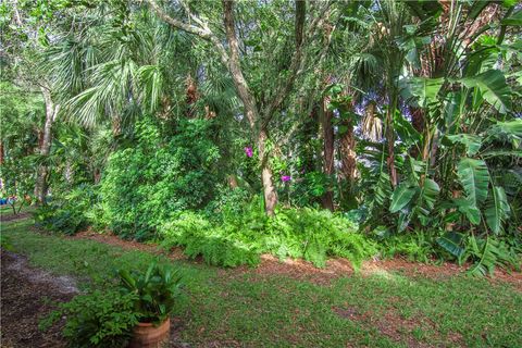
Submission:
<svg viewBox="0 0 522 348">
<path fill-rule="evenodd" d="M 177 270 L 153 262 L 147 272 L 119 272 L 123 289 L 136 295 L 135 311 L 139 323 L 134 327 L 130 348 L 162 347 L 169 340 L 170 314 L 179 295 Z"/>
</svg>

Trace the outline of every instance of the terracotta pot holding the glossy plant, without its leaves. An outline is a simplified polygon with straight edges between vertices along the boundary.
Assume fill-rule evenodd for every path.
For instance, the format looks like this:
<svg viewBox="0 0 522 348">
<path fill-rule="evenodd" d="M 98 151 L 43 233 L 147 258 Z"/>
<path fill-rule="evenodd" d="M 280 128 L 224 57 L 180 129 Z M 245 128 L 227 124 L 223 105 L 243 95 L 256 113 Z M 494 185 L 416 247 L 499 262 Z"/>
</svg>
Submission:
<svg viewBox="0 0 522 348">
<path fill-rule="evenodd" d="M 167 318 L 159 326 L 151 323 L 138 323 L 134 327 L 129 348 L 160 348 L 169 344 L 171 319 Z"/>
</svg>

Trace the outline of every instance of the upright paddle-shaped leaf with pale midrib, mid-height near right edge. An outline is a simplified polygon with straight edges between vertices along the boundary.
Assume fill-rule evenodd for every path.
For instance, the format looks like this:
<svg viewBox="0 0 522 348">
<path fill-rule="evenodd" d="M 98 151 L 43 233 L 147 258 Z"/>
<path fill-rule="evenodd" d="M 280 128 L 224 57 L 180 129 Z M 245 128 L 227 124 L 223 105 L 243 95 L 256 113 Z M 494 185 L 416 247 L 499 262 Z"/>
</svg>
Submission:
<svg viewBox="0 0 522 348">
<path fill-rule="evenodd" d="M 486 163 L 482 160 L 463 158 L 459 162 L 457 174 L 467 194 L 467 200 L 478 208 L 478 204 L 487 198 L 489 172 Z"/>
</svg>

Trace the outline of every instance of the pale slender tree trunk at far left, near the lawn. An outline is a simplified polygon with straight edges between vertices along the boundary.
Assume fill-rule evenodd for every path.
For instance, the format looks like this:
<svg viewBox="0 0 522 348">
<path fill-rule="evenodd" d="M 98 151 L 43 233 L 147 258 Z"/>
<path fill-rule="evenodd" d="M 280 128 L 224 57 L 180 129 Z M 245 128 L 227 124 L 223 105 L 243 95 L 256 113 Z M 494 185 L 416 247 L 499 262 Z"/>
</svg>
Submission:
<svg viewBox="0 0 522 348">
<path fill-rule="evenodd" d="M 49 89 L 42 87 L 41 92 L 44 95 L 44 100 L 46 102 L 46 123 L 44 124 L 39 153 L 42 157 L 48 157 L 51 151 L 52 123 L 54 122 L 54 117 L 57 116 L 60 105 L 54 105 L 54 103 L 52 102 L 51 92 Z M 46 196 L 48 191 L 48 182 L 47 182 L 48 175 L 49 175 L 49 167 L 45 164 L 41 164 L 38 167 L 38 172 L 36 176 L 36 187 L 35 187 L 36 200 L 38 204 L 46 203 Z"/>
</svg>

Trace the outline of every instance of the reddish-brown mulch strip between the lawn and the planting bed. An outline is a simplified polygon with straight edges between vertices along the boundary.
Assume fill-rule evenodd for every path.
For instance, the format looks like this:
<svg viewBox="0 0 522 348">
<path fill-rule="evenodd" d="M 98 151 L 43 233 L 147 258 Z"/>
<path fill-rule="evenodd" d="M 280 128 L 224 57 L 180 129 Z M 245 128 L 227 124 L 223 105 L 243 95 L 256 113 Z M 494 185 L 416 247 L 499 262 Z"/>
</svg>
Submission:
<svg viewBox="0 0 522 348">
<path fill-rule="evenodd" d="M 84 231 L 73 238 L 90 239 L 121 247 L 126 250 L 140 250 L 156 254 L 163 254 L 171 260 L 188 260 L 183 253 L 182 248 L 173 248 L 169 252 L 153 244 L 142 244 L 135 240 L 124 240 L 110 232 L 100 234 L 94 231 Z M 198 261 L 198 260 L 197 260 Z M 202 261 L 199 260 L 198 263 Z M 444 262 L 442 264 L 426 264 L 408 261 L 401 258 L 390 260 L 369 260 L 362 263 L 360 274 L 368 276 L 376 273 L 398 272 L 407 276 L 422 276 L 431 279 L 444 279 L 459 274 L 464 274 L 470 265 L 459 266 L 455 263 Z M 219 272 L 229 277 L 238 277 L 244 274 L 253 274 L 259 277 L 271 275 L 283 275 L 298 281 L 308 281 L 319 285 L 330 285 L 332 281 L 341 276 L 355 274 L 350 261 L 346 259 L 330 259 L 326 266 L 319 269 L 311 262 L 304 260 L 287 259 L 281 261 L 272 254 L 262 254 L 261 263 L 250 269 L 246 265 L 235 269 L 219 269 Z M 520 291 L 522 291 L 522 273 L 497 269 L 493 277 L 488 277 L 492 283 L 506 282 Z"/>
</svg>

